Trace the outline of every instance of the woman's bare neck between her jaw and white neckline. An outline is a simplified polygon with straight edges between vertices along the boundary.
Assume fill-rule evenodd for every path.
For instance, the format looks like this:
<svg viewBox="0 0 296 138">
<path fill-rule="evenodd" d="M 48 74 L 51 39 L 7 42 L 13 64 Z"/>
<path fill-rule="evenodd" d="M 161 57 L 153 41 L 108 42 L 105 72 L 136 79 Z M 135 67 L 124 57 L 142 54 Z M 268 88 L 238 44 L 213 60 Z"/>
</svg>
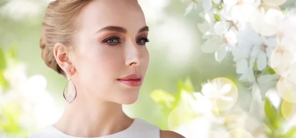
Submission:
<svg viewBox="0 0 296 138">
<path fill-rule="evenodd" d="M 95 102 L 94 102 L 95 101 Z M 77 96 L 67 103 L 64 113 L 54 127 L 74 137 L 102 137 L 125 130 L 133 119 L 122 110 L 122 105 Z"/>
</svg>

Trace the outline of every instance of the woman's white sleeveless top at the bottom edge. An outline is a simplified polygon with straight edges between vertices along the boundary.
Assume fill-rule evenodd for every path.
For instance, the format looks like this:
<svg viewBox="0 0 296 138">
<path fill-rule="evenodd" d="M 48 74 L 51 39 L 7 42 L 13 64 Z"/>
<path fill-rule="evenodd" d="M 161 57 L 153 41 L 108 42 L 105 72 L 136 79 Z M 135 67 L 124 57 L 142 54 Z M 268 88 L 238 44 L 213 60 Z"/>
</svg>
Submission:
<svg viewBox="0 0 296 138">
<path fill-rule="evenodd" d="M 28 138 L 82 138 L 67 135 L 53 125 L 38 130 Z M 94 138 L 94 137 L 93 137 Z M 125 130 L 103 137 L 96 138 L 160 138 L 160 128 L 140 118 L 135 118 L 133 123 Z"/>
</svg>

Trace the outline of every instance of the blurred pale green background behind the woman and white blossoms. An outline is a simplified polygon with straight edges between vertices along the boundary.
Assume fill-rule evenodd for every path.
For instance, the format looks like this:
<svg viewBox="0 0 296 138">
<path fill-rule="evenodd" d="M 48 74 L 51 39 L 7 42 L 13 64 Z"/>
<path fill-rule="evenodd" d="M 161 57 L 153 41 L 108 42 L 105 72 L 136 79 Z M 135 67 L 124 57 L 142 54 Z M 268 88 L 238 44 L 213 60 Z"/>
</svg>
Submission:
<svg viewBox="0 0 296 138">
<path fill-rule="evenodd" d="M 63 109 L 65 100 L 62 94 L 67 80 L 45 65 L 39 48 L 40 23 L 49 0 L 13 1 L 20 4 L 8 5 L 10 0 L 0 1 L 0 47 L 4 52 L 13 47 L 16 49 L 16 59 L 25 63 L 27 76 L 43 75 L 47 80 L 46 90 L 54 98 L 55 105 Z M 295 6 L 294 2 L 295 0 L 288 0 L 282 8 Z M 202 83 L 217 77 L 232 80 L 239 89 L 237 105 L 248 110 L 252 93 L 237 81 L 232 55 L 228 54 L 219 63 L 214 54 L 204 54 L 200 50 L 200 45 L 204 42 L 197 28 L 197 23 L 202 22 L 198 15 L 202 11 L 201 5 L 184 16 L 188 2 L 139 0 L 139 3 L 150 28 L 150 42 L 147 44 L 150 63 L 138 101 L 124 106 L 129 116 L 139 117 L 162 129 L 168 129 L 167 120 L 151 99 L 150 93 L 155 89 L 175 93 L 178 80 L 187 77 L 191 79 L 194 91 L 201 91 Z M 61 112 L 54 114 L 60 115 L 59 113 Z M 29 122 L 31 119 L 33 118 L 28 118 Z"/>
</svg>

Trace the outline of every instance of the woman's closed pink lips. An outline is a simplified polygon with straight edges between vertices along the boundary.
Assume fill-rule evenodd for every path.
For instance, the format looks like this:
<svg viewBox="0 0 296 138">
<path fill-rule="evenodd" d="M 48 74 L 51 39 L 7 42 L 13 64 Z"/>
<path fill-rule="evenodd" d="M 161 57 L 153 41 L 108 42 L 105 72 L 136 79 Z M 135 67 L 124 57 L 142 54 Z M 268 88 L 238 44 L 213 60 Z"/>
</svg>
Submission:
<svg viewBox="0 0 296 138">
<path fill-rule="evenodd" d="M 119 78 L 117 81 L 129 86 L 138 87 L 142 84 L 142 74 L 131 74 L 126 77 Z"/>
</svg>

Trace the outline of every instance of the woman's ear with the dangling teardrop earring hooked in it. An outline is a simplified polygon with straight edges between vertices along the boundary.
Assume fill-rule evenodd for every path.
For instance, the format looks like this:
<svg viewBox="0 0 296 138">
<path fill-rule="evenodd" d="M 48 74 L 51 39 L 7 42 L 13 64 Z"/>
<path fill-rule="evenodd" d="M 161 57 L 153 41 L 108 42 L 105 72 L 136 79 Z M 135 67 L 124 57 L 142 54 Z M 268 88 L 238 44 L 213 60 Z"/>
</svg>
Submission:
<svg viewBox="0 0 296 138">
<path fill-rule="evenodd" d="M 62 43 L 56 43 L 53 47 L 53 55 L 58 65 L 64 70 L 66 75 L 73 75 L 74 64 L 69 59 L 70 48 Z"/>
</svg>

